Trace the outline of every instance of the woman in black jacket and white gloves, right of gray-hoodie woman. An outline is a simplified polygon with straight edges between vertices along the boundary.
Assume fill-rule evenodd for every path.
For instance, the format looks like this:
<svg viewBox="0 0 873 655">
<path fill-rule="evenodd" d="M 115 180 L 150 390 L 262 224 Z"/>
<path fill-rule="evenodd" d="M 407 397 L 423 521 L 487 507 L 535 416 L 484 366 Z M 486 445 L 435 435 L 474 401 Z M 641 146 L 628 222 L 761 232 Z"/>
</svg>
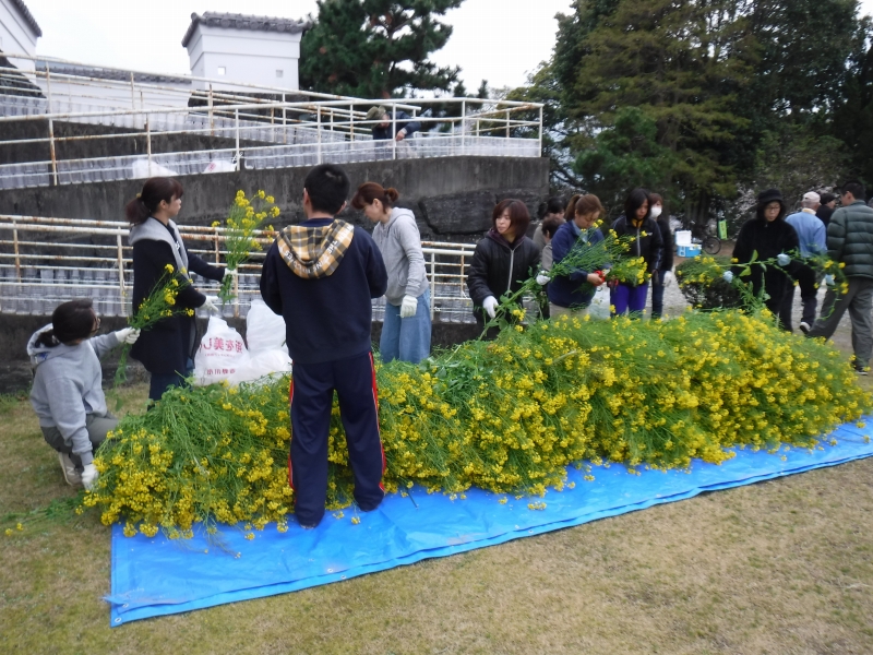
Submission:
<svg viewBox="0 0 873 655">
<path fill-rule="evenodd" d="M 499 298 L 522 288 L 539 266 L 539 249 L 526 236 L 530 214 L 525 203 L 499 202 L 491 213 L 491 224 L 485 239 L 476 245 L 467 273 L 473 314 L 480 329 L 494 318 Z M 489 336 L 494 334 L 495 331 L 489 331 Z"/>
</svg>

